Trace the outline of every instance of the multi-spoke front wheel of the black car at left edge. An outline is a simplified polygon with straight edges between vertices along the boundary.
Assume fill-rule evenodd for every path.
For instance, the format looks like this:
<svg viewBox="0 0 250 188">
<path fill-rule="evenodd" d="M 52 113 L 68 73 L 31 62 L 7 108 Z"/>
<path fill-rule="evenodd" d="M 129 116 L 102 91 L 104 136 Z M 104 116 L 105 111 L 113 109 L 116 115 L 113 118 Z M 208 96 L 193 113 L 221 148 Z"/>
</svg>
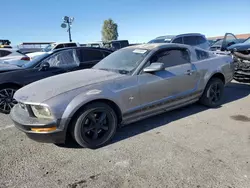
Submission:
<svg viewBox="0 0 250 188">
<path fill-rule="evenodd" d="M 9 114 L 12 107 L 17 104 L 17 101 L 13 98 L 15 88 L 3 88 L 0 89 L 0 112 Z"/>
</svg>

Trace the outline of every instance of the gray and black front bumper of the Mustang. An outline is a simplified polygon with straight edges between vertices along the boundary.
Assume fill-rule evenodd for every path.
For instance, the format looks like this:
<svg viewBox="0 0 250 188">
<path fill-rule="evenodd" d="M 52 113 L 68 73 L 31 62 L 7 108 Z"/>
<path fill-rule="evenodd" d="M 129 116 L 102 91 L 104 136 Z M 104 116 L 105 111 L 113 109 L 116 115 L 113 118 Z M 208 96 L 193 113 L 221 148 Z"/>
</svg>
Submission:
<svg viewBox="0 0 250 188">
<path fill-rule="evenodd" d="M 61 120 L 47 120 L 30 117 L 28 112 L 15 105 L 10 113 L 10 117 L 15 127 L 26 133 L 26 135 L 37 142 L 64 143 L 66 139 L 66 129 L 60 125 Z M 33 128 L 51 128 L 55 130 L 49 132 L 35 132 Z"/>
</svg>

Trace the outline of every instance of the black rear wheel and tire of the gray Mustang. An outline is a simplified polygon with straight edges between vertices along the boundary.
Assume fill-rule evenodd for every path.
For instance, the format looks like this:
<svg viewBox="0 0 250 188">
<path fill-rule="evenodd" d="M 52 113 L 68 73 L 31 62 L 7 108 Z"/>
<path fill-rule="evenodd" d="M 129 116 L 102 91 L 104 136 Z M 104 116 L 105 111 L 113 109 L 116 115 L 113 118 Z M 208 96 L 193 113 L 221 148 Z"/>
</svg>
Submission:
<svg viewBox="0 0 250 188">
<path fill-rule="evenodd" d="M 220 106 L 224 100 L 224 87 L 224 83 L 220 78 L 211 78 L 199 102 L 210 108 Z"/>
</svg>

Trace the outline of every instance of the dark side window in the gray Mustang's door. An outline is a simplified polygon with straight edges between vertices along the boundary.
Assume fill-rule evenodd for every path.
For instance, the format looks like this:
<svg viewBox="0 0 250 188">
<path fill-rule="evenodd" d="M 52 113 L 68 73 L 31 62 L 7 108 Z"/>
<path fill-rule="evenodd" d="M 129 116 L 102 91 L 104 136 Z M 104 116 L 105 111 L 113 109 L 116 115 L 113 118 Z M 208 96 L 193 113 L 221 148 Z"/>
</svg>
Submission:
<svg viewBox="0 0 250 188">
<path fill-rule="evenodd" d="M 172 67 L 190 62 L 189 53 L 186 49 L 164 50 L 157 53 L 151 59 L 151 63 L 164 63 L 164 67 Z"/>
</svg>

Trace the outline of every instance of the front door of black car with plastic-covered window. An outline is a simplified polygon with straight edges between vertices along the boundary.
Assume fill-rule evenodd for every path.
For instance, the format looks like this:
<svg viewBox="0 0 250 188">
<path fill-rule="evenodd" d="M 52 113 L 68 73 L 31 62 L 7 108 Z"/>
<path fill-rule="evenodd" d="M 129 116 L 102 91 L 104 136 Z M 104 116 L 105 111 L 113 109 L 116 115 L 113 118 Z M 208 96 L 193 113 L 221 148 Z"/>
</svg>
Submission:
<svg viewBox="0 0 250 188">
<path fill-rule="evenodd" d="M 42 69 L 42 64 L 45 62 L 49 67 Z M 22 80 L 26 85 L 43 78 L 78 70 L 79 64 L 75 49 L 62 50 L 45 58 L 35 68 L 26 70 Z"/>
</svg>

